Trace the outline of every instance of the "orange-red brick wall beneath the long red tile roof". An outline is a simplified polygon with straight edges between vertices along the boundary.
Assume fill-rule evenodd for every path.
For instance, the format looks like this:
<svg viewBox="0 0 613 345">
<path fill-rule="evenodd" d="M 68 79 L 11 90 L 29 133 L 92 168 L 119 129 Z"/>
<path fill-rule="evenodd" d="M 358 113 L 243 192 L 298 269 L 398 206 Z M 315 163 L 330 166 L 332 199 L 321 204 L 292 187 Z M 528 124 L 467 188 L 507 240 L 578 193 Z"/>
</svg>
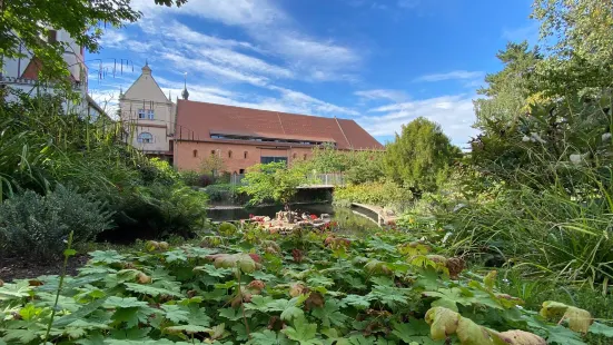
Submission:
<svg viewBox="0 0 613 345">
<path fill-rule="evenodd" d="M 177 141 L 175 165 L 179 170 L 199 170 L 200 161 L 212 152 L 224 159 L 228 172 L 240 174 L 241 170 L 259 164 L 261 157 L 287 157 L 289 164 L 294 160 L 308 159 L 312 156 L 312 148 L 268 148 L 244 144 Z"/>
</svg>

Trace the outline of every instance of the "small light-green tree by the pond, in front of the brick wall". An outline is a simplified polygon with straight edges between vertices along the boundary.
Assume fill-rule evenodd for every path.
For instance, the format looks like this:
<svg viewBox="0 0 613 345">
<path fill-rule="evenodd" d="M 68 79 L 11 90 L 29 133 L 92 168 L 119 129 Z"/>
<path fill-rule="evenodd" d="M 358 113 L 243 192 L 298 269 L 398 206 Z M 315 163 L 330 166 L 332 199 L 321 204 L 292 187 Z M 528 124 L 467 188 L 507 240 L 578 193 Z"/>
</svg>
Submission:
<svg viewBox="0 0 613 345">
<path fill-rule="evenodd" d="M 306 183 L 306 176 L 303 169 L 288 168 L 285 162 L 277 161 L 250 167 L 244 181 L 245 186 L 240 187 L 240 191 L 251 197 L 249 203 L 275 200 L 289 210 L 289 204 L 296 196 L 298 186 Z"/>
</svg>

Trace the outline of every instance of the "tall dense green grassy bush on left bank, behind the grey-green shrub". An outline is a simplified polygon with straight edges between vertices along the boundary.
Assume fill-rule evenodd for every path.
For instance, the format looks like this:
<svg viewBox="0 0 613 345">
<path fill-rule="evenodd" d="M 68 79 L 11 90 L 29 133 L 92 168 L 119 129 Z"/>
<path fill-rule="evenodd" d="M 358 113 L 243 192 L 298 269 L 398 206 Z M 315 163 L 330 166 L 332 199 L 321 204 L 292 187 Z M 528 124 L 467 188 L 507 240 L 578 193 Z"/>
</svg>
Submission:
<svg viewBox="0 0 613 345">
<path fill-rule="evenodd" d="M 106 201 L 115 229 L 106 239 L 131 240 L 198 228 L 206 196 L 188 190 L 167 161 L 149 160 L 123 144 L 120 124 L 65 114 L 59 97 L 0 102 L 0 187 L 41 195 L 77 186 Z"/>
</svg>

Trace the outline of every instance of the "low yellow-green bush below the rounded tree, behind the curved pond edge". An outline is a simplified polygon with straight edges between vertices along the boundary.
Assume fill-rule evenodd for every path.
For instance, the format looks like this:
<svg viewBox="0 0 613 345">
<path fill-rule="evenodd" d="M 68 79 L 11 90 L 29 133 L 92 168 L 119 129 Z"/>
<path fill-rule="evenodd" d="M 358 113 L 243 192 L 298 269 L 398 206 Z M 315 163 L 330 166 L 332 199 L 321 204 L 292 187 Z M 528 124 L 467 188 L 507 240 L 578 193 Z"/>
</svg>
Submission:
<svg viewBox="0 0 613 345">
<path fill-rule="evenodd" d="M 342 206 L 358 203 L 403 209 L 412 199 L 411 190 L 390 180 L 348 185 L 334 191 L 334 203 Z"/>
</svg>

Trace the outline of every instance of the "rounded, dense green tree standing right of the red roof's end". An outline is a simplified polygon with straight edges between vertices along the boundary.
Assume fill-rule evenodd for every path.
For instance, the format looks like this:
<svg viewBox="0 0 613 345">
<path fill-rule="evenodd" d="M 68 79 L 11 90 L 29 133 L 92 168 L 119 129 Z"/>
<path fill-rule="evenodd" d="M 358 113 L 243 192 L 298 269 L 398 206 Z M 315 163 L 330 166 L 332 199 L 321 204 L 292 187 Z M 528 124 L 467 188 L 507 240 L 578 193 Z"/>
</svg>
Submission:
<svg viewBox="0 0 613 345">
<path fill-rule="evenodd" d="M 387 146 L 385 172 L 418 196 L 437 188 L 448 167 L 461 156 L 441 126 L 419 117 L 403 126 L 402 134 Z"/>
</svg>

